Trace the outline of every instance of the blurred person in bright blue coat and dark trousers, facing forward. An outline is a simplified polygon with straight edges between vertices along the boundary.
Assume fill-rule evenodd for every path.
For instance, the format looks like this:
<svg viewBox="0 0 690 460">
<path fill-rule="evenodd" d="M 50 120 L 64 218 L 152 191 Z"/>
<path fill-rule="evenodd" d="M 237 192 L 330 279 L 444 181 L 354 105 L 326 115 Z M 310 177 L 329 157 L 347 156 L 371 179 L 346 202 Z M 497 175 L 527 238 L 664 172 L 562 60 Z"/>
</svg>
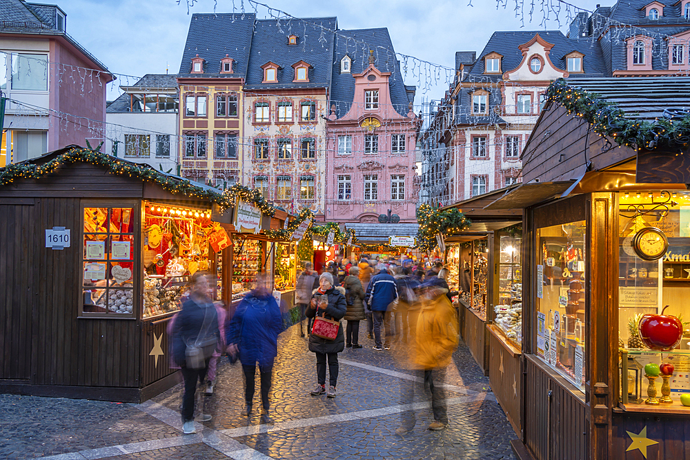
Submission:
<svg viewBox="0 0 690 460">
<path fill-rule="evenodd" d="M 246 406 L 242 414 L 246 416 L 252 413 L 257 363 L 261 377 L 262 415 L 268 416 L 273 360 L 278 354 L 278 334 L 283 331 L 280 308 L 268 283 L 265 275 L 257 277 L 256 287 L 242 299 L 235 316 L 225 328 L 228 353 L 233 357 L 239 356 L 244 371 Z"/>
</svg>

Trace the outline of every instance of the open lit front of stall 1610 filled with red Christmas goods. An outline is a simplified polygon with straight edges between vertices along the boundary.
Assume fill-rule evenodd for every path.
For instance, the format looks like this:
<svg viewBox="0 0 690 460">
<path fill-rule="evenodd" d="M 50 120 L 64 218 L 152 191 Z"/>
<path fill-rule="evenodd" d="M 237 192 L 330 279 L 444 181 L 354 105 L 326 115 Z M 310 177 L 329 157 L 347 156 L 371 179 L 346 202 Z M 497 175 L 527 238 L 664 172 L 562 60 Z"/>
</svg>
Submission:
<svg viewBox="0 0 690 460">
<path fill-rule="evenodd" d="M 179 310 L 189 277 L 197 271 L 213 272 L 214 251 L 209 239 L 217 234 L 227 237 L 217 225 L 210 221 L 210 210 L 144 203 L 142 317 Z M 216 233 L 218 230 L 222 231 Z M 217 293 L 213 296 L 217 298 Z"/>
</svg>

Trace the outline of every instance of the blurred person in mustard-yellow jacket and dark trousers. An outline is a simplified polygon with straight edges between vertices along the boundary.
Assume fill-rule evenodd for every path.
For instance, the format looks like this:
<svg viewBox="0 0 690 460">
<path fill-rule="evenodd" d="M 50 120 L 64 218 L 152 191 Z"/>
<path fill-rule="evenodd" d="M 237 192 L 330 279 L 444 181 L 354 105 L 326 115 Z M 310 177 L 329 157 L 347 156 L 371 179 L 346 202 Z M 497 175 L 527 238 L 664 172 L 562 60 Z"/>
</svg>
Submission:
<svg viewBox="0 0 690 460">
<path fill-rule="evenodd" d="M 408 350 L 410 368 L 422 379 L 425 392 L 431 392 L 431 408 L 434 421 L 429 430 L 443 430 L 448 426 L 446 404 L 446 368 L 451 363 L 459 341 L 457 313 L 446 297 L 446 290 L 431 284 L 422 286 L 422 308 L 417 318 L 414 341 Z M 416 381 L 406 381 L 403 387 L 405 401 L 413 401 Z M 401 426 L 396 434 L 405 434 L 415 426 L 415 412 L 401 412 Z"/>
</svg>

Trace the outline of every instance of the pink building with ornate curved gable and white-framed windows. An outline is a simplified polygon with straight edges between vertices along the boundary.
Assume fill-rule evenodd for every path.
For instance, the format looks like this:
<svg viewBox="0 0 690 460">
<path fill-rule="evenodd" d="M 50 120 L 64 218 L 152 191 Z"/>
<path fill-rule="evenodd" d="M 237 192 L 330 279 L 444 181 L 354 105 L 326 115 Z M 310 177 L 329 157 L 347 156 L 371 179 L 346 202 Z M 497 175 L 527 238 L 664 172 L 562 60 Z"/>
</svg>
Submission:
<svg viewBox="0 0 690 460">
<path fill-rule="evenodd" d="M 402 85 L 397 67 L 380 70 L 373 54 L 368 61 L 359 73 L 349 72 L 355 63 L 347 55 L 337 61 L 334 80 L 351 79 L 353 95 L 347 103 L 334 93 L 326 122 L 326 220 L 378 223 L 390 211 L 413 223 L 419 195 L 413 89 Z"/>
</svg>

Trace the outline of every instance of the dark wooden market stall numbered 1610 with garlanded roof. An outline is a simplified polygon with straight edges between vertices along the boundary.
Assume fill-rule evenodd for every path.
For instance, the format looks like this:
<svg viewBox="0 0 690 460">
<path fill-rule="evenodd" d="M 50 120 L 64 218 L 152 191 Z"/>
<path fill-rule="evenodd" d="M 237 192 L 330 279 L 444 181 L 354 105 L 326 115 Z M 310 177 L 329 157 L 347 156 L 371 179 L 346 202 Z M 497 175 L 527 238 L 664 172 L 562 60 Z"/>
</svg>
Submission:
<svg viewBox="0 0 690 460">
<path fill-rule="evenodd" d="M 166 326 L 190 272 L 217 272 L 219 193 L 78 146 L 0 179 L 0 391 L 139 402 L 177 383 Z"/>
</svg>

